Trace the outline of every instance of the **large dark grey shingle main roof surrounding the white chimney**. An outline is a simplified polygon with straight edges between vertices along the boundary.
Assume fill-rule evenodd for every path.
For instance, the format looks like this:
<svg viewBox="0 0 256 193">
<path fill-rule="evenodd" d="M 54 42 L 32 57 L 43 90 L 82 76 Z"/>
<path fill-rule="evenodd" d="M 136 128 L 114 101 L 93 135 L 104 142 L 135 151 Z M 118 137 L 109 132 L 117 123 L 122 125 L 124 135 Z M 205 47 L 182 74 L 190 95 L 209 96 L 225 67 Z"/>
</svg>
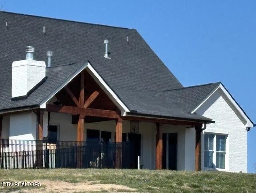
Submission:
<svg viewBox="0 0 256 193">
<path fill-rule="evenodd" d="M 5 22 L 8 22 L 7 28 Z M 46 34 L 43 33 L 44 26 Z M 111 59 L 103 57 L 104 39 L 110 42 Z M 183 86 L 134 29 L 0 12 L 0 42 L 0 109 L 38 104 L 82 65 L 63 64 L 88 59 L 130 110 L 209 120 L 188 113 L 186 106 L 171 99 L 171 94 L 178 96 L 179 91 L 166 90 L 183 90 Z M 35 58 L 40 61 L 47 61 L 46 51 L 52 50 L 52 65 L 56 68 L 47 69 L 48 79 L 28 98 L 11 101 L 12 61 L 25 58 L 26 45 L 35 47 Z M 191 105 L 187 104 L 188 108 Z"/>
</svg>

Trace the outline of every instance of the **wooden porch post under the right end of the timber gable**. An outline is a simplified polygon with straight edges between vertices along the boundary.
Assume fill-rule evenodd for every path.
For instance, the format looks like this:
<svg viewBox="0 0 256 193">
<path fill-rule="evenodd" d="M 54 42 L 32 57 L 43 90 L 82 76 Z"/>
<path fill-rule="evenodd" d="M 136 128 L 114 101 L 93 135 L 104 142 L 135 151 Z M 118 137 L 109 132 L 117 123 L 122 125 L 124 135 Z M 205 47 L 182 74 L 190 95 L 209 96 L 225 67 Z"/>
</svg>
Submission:
<svg viewBox="0 0 256 193">
<path fill-rule="evenodd" d="M 116 142 L 122 142 L 122 119 L 116 120 Z M 116 146 L 116 169 L 122 168 L 122 145 Z"/>
</svg>

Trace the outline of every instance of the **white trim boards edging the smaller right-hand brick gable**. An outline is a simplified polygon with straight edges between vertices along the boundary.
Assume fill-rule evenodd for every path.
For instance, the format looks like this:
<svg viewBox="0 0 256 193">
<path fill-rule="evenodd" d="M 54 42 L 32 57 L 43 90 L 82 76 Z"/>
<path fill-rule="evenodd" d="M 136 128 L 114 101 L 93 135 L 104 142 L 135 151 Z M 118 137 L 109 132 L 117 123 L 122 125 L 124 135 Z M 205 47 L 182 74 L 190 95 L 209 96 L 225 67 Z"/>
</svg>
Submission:
<svg viewBox="0 0 256 193">
<path fill-rule="evenodd" d="M 220 85 L 214 89 L 209 95 L 200 103 L 191 113 L 195 113 L 200 107 L 215 93 L 220 91 L 221 95 L 224 96 L 225 100 L 227 100 L 228 104 L 231 108 L 236 112 L 238 117 L 244 120 L 246 123 L 244 124 L 246 127 L 255 127 L 256 125 L 250 120 L 241 106 L 236 102 L 236 100 L 232 97 L 232 95 L 228 92 L 228 90 L 224 87 L 224 85 L 220 82 Z"/>
</svg>

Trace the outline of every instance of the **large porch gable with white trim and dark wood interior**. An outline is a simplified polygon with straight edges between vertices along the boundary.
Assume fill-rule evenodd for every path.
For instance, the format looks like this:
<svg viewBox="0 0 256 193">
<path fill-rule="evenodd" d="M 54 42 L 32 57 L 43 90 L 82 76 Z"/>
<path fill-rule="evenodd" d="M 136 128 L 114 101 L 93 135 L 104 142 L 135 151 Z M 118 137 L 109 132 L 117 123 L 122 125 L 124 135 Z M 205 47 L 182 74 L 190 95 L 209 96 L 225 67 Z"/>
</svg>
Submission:
<svg viewBox="0 0 256 193">
<path fill-rule="evenodd" d="M 98 106 L 94 104 L 94 108 L 106 109 L 106 110 L 117 110 L 121 111 L 124 115 L 125 112 L 129 112 L 126 105 L 120 100 L 120 98 L 110 89 L 102 77 L 94 70 L 89 62 L 86 62 L 84 66 L 76 71 L 73 76 L 69 77 L 64 83 L 62 83 L 57 89 L 55 89 L 47 98 L 45 98 L 41 103 L 40 107 L 45 108 L 46 103 L 56 95 L 58 99 L 62 99 L 62 103 L 65 105 L 74 105 L 74 102 L 70 100 L 68 94 L 64 90 L 64 87 L 68 86 L 72 93 L 75 93 L 75 97 L 78 98 L 79 86 L 80 85 L 80 73 L 85 70 L 85 98 L 89 97 L 94 91 L 100 92 L 100 97 L 96 98 L 98 101 Z M 100 98 L 100 99 L 99 99 Z"/>
</svg>

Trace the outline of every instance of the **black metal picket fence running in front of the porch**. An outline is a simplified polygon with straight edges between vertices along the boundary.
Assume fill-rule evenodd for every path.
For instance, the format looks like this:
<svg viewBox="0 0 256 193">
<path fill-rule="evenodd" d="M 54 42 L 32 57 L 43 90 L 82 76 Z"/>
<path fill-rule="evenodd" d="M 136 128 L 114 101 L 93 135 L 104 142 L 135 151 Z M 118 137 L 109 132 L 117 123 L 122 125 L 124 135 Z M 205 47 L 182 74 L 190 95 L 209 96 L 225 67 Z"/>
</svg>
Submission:
<svg viewBox="0 0 256 193">
<path fill-rule="evenodd" d="M 1 140 L 0 168 L 130 168 L 132 142 Z"/>
</svg>

